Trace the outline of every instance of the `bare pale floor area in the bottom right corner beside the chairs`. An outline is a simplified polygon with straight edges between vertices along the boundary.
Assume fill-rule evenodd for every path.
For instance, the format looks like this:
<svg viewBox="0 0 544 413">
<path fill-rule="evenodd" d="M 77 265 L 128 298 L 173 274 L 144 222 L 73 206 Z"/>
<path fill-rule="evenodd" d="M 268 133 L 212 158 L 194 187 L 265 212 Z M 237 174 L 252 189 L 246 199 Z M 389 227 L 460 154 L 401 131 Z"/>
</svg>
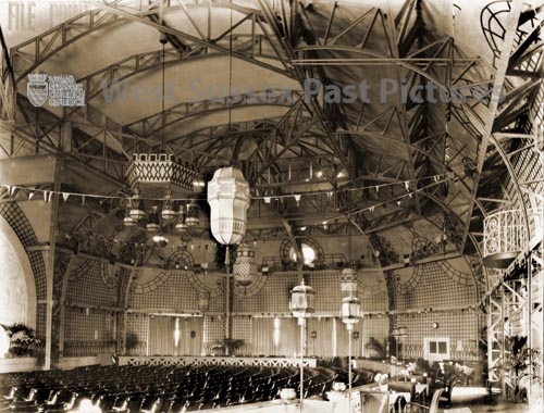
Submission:
<svg viewBox="0 0 544 413">
<path fill-rule="evenodd" d="M 454 404 L 452 409 L 445 409 L 444 413 L 456 413 L 456 410 L 458 410 L 457 413 L 462 413 L 462 408 L 469 408 L 472 413 L 529 413 L 529 404 L 504 401 L 500 395 L 490 398 L 483 387 L 455 387 L 452 403 Z"/>
</svg>

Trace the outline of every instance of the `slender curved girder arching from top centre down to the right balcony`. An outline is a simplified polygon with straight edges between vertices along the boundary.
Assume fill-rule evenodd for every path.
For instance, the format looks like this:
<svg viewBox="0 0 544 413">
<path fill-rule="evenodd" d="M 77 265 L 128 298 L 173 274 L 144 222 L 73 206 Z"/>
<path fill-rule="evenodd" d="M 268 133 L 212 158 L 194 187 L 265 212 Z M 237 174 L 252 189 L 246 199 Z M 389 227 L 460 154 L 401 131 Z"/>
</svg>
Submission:
<svg viewBox="0 0 544 413">
<path fill-rule="evenodd" d="M 345 52 L 351 52 L 351 53 L 357 53 L 357 54 L 370 54 L 370 55 L 373 55 L 375 58 L 380 58 L 380 59 L 384 59 L 384 60 L 391 60 L 391 58 L 384 55 L 384 54 L 381 54 L 381 53 L 375 53 L 375 52 L 369 52 L 369 51 L 364 51 L 364 50 L 360 50 L 360 49 L 356 49 L 356 48 L 353 48 L 353 47 L 338 47 L 338 46 L 312 46 L 312 47 L 305 47 L 305 48 L 301 48 L 300 49 L 301 51 L 305 51 L 305 50 L 330 50 L 330 51 L 345 51 Z M 398 61 L 397 64 L 404 66 L 405 68 L 409 70 L 409 71 L 412 71 L 412 72 L 416 72 L 417 74 L 421 75 L 422 77 L 426 78 L 428 80 L 431 80 L 436 87 L 438 87 L 440 89 L 442 89 L 444 92 L 448 92 L 448 88 L 446 85 L 444 85 L 442 82 L 440 82 L 436 77 L 432 76 L 430 73 L 428 73 L 426 71 L 418 67 L 417 65 L 413 65 L 411 64 L 410 62 L 408 61 Z M 523 193 L 521 191 L 521 188 L 520 188 L 520 185 L 519 185 L 519 182 L 518 182 L 518 178 L 516 176 L 516 173 L 514 171 L 514 167 L 511 166 L 511 163 L 508 159 L 508 157 L 506 155 L 506 153 L 504 152 L 504 150 L 502 149 L 500 145 L 498 143 L 498 141 L 495 139 L 495 137 L 493 136 L 492 133 L 490 133 L 486 128 L 485 128 L 485 125 L 483 123 L 483 121 L 480 118 L 480 116 L 472 110 L 472 108 L 470 108 L 468 104 L 466 103 L 462 103 L 462 102 L 459 102 L 461 109 L 463 110 L 463 112 L 466 113 L 467 117 L 469 118 L 469 121 L 472 123 L 472 125 L 482 134 L 482 135 L 485 135 L 485 137 L 497 148 L 497 151 L 499 152 L 500 154 L 500 158 L 503 159 L 503 162 L 505 163 L 505 166 L 507 167 L 508 170 L 508 173 L 510 174 L 510 177 L 512 179 L 512 183 L 514 183 L 514 186 L 516 188 L 516 192 L 518 193 L 518 196 L 520 197 L 520 199 L 522 200 L 523 199 Z M 479 171 L 480 173 L 480 171 Z M 475 197 L 474 197 L 475 199 Z M 526 229 L 527 229 L 527 233 L 530 235 L 531 234 L 531 229 L 530 229 L 530 225 L 529 225 L 529 215 L 528 215 L 528 212 L 527 212 L 527 206 L 526 206 L 526 203 L 524 202 L 520 202 L 521 203 L 521 211 L 523 213 L 523 221 L 526 223 Z"/>
</svg>

